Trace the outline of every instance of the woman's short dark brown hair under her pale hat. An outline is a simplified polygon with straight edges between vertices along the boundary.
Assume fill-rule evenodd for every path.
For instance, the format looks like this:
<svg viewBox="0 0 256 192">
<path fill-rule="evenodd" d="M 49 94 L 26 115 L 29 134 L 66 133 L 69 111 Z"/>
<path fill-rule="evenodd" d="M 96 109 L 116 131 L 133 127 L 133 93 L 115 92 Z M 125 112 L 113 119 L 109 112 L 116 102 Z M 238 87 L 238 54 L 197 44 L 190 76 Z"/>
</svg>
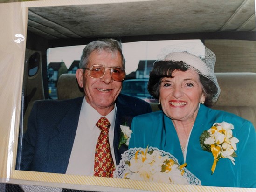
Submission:
<svg viewBox="0 0 256 192">
<path fill-rule="evenodd" d="M 184 62 L 182 61 L 157 61 L 154 63 L 154 67 L 149 74 L 147 89 L 150 95 L 155 99 L 159 99 L 159 89 L 162 78 L 173 78 L 172 73 L 174 70 L 187 71 L 187 67 L 185 67 Z M 205 95 L 204 105 L 211 107 L 213 103 L 213 96 L 217 93 L 218 88 L 213 81 L 200 74 L 199 79 L 203 86 L 203 92 Z"/>
</svg>

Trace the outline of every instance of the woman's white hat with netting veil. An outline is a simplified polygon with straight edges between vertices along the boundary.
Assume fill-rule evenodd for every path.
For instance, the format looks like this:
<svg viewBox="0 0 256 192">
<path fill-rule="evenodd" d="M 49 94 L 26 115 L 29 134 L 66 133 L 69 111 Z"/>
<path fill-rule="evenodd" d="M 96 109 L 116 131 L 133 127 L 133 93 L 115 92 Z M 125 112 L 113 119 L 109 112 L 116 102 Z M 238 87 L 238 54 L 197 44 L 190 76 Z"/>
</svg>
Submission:
<svg viewBox="0 0 256 192">
<path fill-rule="evenodd" d="M 192 69 L 196 73 L 210 79 L 217 86 L 218 91 L 213 96 L 213 101 L 217 101 L 221 89 L 218 84 L 216 75 L 214 74 L 214 66 L 216 62 L 216 56 L 214 52 L 204 46 L 204 50 L 198 55 L 184 51 L 184 48 L 165 48 L 163 50 L 165 56 L 161 56 L 159 60 L 164 61 L 182 61 L 187 69 Z"/>
</svg>

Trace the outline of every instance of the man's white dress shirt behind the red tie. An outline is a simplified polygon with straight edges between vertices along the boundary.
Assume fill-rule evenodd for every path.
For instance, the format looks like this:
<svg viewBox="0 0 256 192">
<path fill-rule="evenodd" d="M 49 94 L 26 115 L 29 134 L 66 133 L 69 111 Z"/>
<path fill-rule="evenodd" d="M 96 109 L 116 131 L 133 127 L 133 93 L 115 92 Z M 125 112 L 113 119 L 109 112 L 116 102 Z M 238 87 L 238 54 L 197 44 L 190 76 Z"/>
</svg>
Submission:
<svg viewBox="0 0 256 192">
<path fill-rule="evenodd" d="M 69 165 L 66 174 L 93 176 L 95 148 L 101 132 L 96 126 L 96 123 L 100 117 L 103 116 L 101 116 L 97 110 L 92 108 L 86 100 L 83 99 L 78 127 L 76 130 L 76 137 L 69 158 Z M 109 129 L 109 140 L 114 164 L 117 166 L 113 146 L 116 106 L 114 107 L 114 110 L 105 117 L 111 124 Z"/>
</svg>

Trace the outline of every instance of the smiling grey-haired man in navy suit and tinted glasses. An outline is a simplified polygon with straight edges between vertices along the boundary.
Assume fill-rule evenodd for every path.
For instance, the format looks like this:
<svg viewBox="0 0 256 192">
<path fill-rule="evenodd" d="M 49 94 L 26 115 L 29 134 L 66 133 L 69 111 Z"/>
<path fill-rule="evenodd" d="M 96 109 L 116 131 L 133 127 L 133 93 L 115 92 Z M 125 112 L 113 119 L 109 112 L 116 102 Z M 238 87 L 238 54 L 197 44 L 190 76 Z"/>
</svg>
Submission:
<svg viewBox="0 0 256 192">
<path fill-rule="evenodd" d="M 76 79 L 84 97 L 36 102 L 23 137 L 21 170 L 112 177 L 121 154 L 120 125 L 131 126 L 148 103 L 120 94 L 125 78 L 121 44 L 89 43 Z"/>
</svg>

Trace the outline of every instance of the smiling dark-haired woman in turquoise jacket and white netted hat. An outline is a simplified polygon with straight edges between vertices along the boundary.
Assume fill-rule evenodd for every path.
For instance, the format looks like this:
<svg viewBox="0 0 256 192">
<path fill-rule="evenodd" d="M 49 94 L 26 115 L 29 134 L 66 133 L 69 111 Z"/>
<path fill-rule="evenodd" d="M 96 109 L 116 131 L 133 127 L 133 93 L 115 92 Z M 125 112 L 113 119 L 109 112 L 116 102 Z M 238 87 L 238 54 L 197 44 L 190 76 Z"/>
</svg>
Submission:
<svg viewBox="0 0 256 192">
<path fill-rule="evenodd" d="M 215 54 L 173 52 L 154 63 L 148 90 L 162 110 L 134 117 L 129 148 L 157 147 L 201 185 L 256 187 L 256 132 L 249 121 L 209 108 L 220 94 Z M 235 86 L 235 85 L 234 85 Z"/>
</svg>

